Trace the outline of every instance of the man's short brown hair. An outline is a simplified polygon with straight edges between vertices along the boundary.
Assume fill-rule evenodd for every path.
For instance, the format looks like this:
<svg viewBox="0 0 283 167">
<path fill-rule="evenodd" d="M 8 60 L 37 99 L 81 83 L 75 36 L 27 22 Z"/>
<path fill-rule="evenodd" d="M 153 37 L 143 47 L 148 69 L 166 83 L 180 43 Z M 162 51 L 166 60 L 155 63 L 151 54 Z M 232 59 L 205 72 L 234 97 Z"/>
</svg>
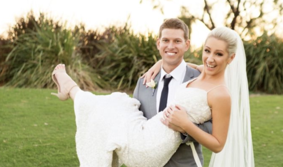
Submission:
<svg viewBox="0 0 283 167">
<path fill-rule="evenodd" d="M 163 29 L 181 29 L 184 31 L 184 38 L 185 38 L 185 41 L 188 40 L 189 38 L 189 28 L 187 26 L 187 24 L 185 24 L 182 20 L 180 19 L 175 19 L 175 18 L 172 18 L 172 19 L 166 19 L 160 26 L 159 28 L 159 34 L 158 34 L 158 38 L 160 39 L 161 38 L 161 33 L 162 33 L 162 30 Z"/>
</svg>

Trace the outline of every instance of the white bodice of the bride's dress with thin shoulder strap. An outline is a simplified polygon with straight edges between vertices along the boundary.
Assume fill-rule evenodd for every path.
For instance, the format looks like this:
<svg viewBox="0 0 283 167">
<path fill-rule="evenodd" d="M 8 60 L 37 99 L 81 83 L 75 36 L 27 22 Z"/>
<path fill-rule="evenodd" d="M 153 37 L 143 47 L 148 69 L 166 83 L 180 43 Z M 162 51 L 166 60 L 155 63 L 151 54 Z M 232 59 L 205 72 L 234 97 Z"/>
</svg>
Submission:
<svg viewBox="0 0 283 167">
<path fill-rule="evenodd" d="M 192 79 L 180 85 L 175 95 L 174 104 L 184 107 L 188 118 L 193 123 L 200 124 L 210 120 L 212 115 L 207 102 L 207 92 L 199 88 L 187 87 L 194 80 Z"/>
</svg>

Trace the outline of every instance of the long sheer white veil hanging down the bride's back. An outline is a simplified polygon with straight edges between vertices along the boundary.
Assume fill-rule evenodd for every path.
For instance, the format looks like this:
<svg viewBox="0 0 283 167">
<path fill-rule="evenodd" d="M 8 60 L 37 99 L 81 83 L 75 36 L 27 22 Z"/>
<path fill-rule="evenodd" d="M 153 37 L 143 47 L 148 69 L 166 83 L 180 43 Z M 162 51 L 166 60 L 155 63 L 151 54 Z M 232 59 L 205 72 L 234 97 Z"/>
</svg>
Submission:
<svg viewBox="0 0 283 167">
<path fill-rule="evenodd" d="M 232 99 L 228 137 L 223 150 L 212 154 L 209 167 L 254 167 L 246 54 L 241 37 L 233 32 L 237 37 L 236 56 L 225 71 Z"/>
</svg>

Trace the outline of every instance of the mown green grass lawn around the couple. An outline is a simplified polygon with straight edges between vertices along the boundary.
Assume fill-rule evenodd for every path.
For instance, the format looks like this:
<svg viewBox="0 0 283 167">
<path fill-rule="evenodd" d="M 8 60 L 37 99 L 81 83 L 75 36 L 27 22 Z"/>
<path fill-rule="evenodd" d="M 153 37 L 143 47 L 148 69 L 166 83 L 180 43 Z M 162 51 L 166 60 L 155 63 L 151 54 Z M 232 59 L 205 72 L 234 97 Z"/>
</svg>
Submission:
<svg viewBox="0 0 283 167">
<path fill-rule="evenodd" d="M 78 167 L 73 102 L 0 87 L 0 167 Z M 283 96 L 250 98 L 256 167 L 283 166 Z M 211 151 L 203 149 L 208 166 Z"/>
</svg>

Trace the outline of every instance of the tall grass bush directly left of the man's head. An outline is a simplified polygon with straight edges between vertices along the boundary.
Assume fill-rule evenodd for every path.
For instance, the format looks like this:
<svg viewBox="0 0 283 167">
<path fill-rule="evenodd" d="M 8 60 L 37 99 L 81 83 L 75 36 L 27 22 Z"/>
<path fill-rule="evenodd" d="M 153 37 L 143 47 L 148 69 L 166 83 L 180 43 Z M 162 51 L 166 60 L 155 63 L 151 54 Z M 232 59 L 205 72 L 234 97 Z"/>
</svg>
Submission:
<svg viewBox="0 0 283 167">
<path fill-rule="evenodd" d="M 159 59 L 156 38 L 151 33 L 136 35 L 128 24 L 106 31 L 112 42 L 101 40 L 97 43 L 101 51 L 94 58 L 93 68 L 109 83 L 105 88 L 133 88 L 139 76 Z"/>
</svg>

